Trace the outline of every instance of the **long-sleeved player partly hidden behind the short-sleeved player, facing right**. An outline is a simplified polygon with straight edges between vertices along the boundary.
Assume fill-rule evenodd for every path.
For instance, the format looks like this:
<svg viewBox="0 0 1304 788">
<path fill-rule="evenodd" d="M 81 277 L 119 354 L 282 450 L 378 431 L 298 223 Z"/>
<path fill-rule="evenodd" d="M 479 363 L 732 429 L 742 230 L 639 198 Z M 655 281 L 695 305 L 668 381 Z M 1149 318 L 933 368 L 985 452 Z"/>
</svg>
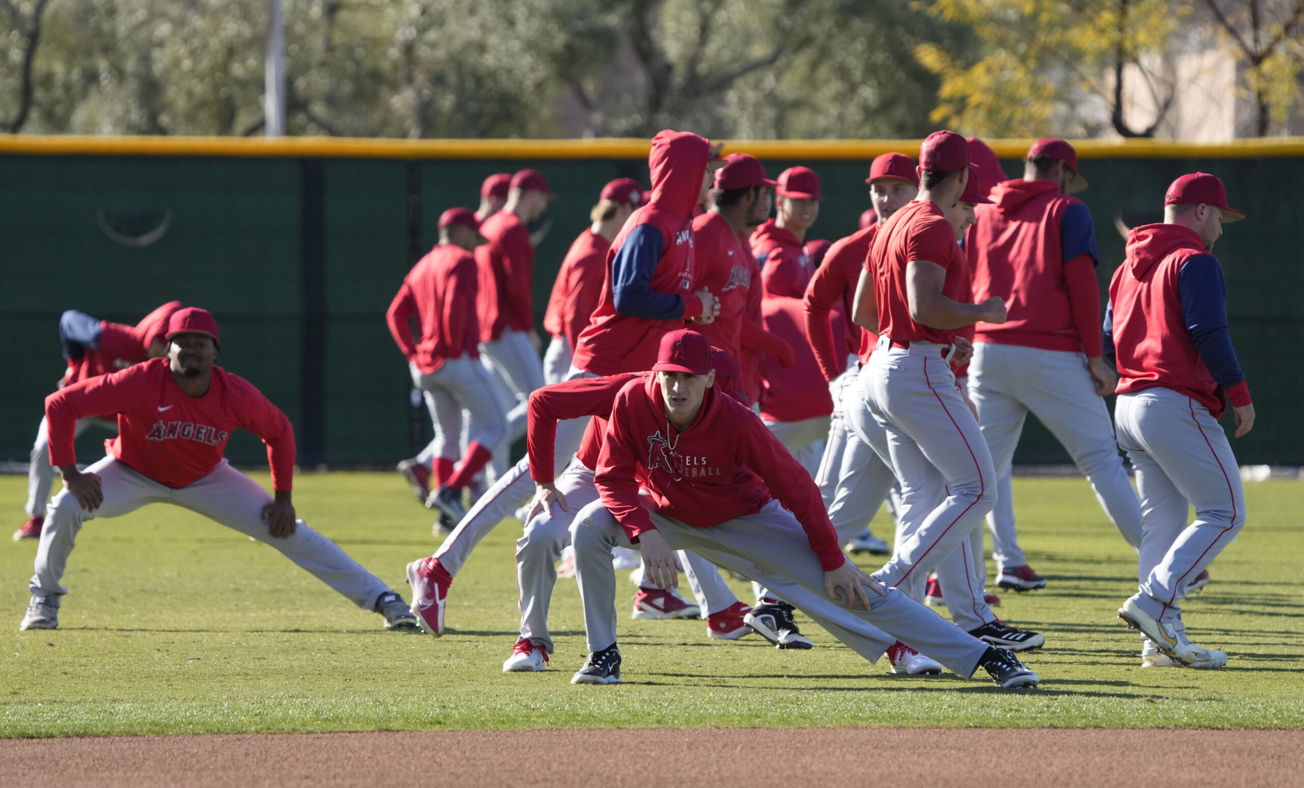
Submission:
<svg viewBox="0 0 1304 788">
<path fill-rule="evenodd" d="M 863 397 L 865 389 L 857 385 L 857 378 L 874 352 L 878 335 L 857 326 L 850 317 L 855 284 L 870 253 L 870 244 L 888 218 L 914 200 L 919 192 L 919 179 L 910 157 L 888 153 L 870 164 L 866 183 L 874 202 L 874 223 L 837 240 L 829 248 L 806 286 L 802 304 L 811 350 L 836 397 L 828 442 L 815 481 L 838 539 L 842 543 L 850 541 L 853 552 L 885 556 L 892 549 L 870 534 L 865 522 L 887 500 L 896 475 L 887 457 L 887 436 L 870 414 Z M 833 333 L 832 314 L 838 307 L 848 318 L 844 337 Z M 875 446 L 883 451 L 883 457 Z"/>
</svg>

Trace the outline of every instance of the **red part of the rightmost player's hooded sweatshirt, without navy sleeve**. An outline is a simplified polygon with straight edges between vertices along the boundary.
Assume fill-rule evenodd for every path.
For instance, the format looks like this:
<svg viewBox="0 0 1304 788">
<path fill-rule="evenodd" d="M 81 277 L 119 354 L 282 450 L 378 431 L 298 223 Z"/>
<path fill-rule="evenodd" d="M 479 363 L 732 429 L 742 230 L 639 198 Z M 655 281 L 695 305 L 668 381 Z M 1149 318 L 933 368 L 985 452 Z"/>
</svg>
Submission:
<svg viewBox="0 0 1304 788">
<path fill-rule="evenodd" d="M 1223 387 L 1191 338 L 1179 288 L 1183 266 L 1202 254 L 1204 241 L 1180 224 L 1145 224 L 1128 235 L 1127 258 L 1110 280 L 1118 393 L 1163 386 L 1218 419 L 1227 410 Z M 1251 403 L 1244 380 L 1227 394 L 1237 407 Z"/>
</svg>

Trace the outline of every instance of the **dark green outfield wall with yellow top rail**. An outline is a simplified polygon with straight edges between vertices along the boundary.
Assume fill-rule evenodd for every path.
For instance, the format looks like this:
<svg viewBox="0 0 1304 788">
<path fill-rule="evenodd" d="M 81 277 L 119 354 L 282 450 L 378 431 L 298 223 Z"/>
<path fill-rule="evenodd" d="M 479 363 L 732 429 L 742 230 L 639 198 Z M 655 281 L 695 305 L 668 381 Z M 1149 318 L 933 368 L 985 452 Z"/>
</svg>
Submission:
<svg viewBox="0 0 1304 788">
<path fill-rule="evenodd" d="M 1011 176 L 1026 142 L 994 144 Z M 918 142 L 730 142 L 771 176 L 811 166 L 825 201 L 812 237 L 855 230 L 868 207 L 868 160 Z M 1116 220 L 1159 220 L 1167 184 L 1213 172 L 1248 219 L 1217 248 L 1232 338 L 1258 412 L 1234 440 L 1241 463 L 1304 464 L 1304 327 L 1300 254 L 1304 141 L 1245 145 L 1089 141 L 1078 146 L 1091 188 L 1099 280 L 1123 258 Z M 647 183 L 645 141 L 339 141 L 0 137 L 0 459 L 26 459 L 42 401 L 63 372 L 64 309 L 134 324 L 180 299 L 211 309 L 227 369 L 253 381 L 292 419 L 300 464 L 381 464 L 419 436 L 403 357 L 385 309 L 451 206 L 475 207 L 492 172 L 542 170 L 558 198 L 537 249 L 535 317 L 587 226 L 597 192 L 621 176 Z M 542 329 L 540 327 L 540 331 Z M 1029 420 L 1016 462 L 1068 458 Z M 1224 423 L 1230 421 L 1224 419 Z M 429 429 L 429 427 L 424 427 Z M 80 444 L 98 457 L 103 433 Z M 230 455 L 253 463 L 246 434 Z"/>
</svg>

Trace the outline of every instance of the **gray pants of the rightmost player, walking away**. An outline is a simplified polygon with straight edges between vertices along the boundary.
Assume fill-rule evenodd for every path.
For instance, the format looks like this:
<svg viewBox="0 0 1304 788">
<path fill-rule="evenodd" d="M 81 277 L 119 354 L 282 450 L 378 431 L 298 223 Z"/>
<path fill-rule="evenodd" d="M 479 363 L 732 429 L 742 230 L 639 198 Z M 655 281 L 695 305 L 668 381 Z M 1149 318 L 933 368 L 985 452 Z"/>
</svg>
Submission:
<svg viewBox="0 0 1304 788">
<path fill-rule="evenodd" d="M 1119 394 L 1119 444 L 1132 459 L 1144 527 L 1132 600 L 1166 624 L 1181 620 L 1187 583 L 1245 524 L 1245 492 L 1227 433 L 1209 408 L 1171 389 Z M 1188 526 L 1188 506 L 1196 519 Z"/>
</svg>

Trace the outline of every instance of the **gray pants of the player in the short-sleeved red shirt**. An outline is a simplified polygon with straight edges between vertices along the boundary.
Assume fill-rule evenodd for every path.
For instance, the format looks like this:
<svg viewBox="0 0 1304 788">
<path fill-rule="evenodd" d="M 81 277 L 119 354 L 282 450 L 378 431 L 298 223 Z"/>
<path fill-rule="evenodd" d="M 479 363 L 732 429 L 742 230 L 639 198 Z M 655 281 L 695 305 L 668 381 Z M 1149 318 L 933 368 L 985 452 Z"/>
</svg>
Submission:
<svg viewBox="0 0 1304 788">
<path fill-rule="evenodd" d="M 880 338 L 866 382 L 870 407 L 887 431 L 892 467 L 901 480 L 902 531 L 896 553 L 874 577 L 901 586 L 922 583 L 934 569 L 939 577 L 943 571 L 957 578 L 977 574 L 973 543 L 966 540 L 982 536 L 983 517 L 996 498 L 987 442 L 956 387 L 944 347 L 913 342 L 909 348 L 897 348 L 888 342 Z M 934 506 L 939 489 L 945 497 Z M 913 522 L 918 526 L 908 526 Z M 953 557 L 957 549 L 964 552 Z M 958 569 L 944 564 L 948 558 L 958 562 Z M 965 561 L 970 564 L 968 573 Z M 971 604 L 948 600 L 966 629 L 995 620 L 981 586 L 975 591 L 977 599 L 965 600 Z"/>
</svg>

